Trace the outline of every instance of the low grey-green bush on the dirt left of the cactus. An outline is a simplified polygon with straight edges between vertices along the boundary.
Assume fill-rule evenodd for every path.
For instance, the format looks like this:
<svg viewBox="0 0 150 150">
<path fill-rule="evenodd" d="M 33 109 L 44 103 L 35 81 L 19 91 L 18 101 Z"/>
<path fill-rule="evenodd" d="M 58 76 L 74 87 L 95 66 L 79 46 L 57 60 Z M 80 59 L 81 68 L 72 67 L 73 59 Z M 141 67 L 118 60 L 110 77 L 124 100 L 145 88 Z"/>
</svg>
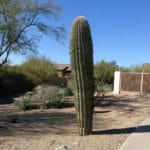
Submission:
<svg viewBox="0 0 150 150">
<path fill-rule="evenodd" d="M 52 85 L 37 86 L 33 92 L 27 92 L 15 104 L 21 110 L 50 107 L 62 108 L 68 104 L 68 96 L 64 88 Z"/>
</svg>

